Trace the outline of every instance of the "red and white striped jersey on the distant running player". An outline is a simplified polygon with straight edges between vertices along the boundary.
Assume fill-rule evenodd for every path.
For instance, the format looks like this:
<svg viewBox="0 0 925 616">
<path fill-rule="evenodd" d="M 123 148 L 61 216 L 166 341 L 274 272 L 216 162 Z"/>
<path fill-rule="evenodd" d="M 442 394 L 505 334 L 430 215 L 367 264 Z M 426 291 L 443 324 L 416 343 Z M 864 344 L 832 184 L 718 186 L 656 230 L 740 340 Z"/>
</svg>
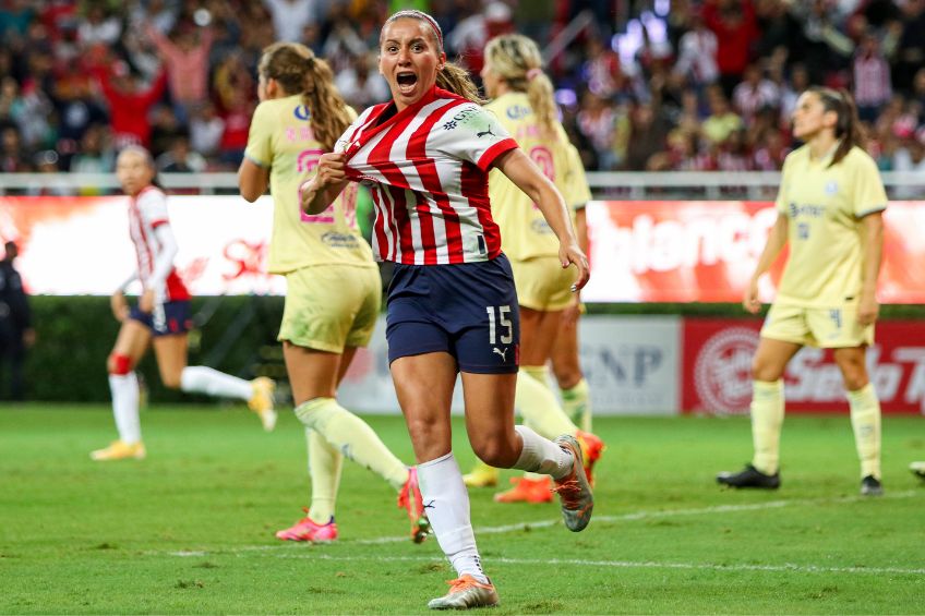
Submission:
<svg viewBox="0 0 925 616">
<path fill-rule="evenodd" d="M 161 251 L 160 242 L 155 234 L 155 229 L 161 225 L 169 225 L 167 217 L 167 196 L 155 186 L 147 186 L 131 200 L 129 205 L 129 234 L 135 244 L 135 254 L 139 259 L 139 279 L 142 288 L 147 290 L 152 287 L 152 275 Z M 167 279 L 160 288 L 154 289 L 155 297 L 163 302 L 189 300 L 190 292 L 183 280 L 171 267 Z"/>
</svg>

